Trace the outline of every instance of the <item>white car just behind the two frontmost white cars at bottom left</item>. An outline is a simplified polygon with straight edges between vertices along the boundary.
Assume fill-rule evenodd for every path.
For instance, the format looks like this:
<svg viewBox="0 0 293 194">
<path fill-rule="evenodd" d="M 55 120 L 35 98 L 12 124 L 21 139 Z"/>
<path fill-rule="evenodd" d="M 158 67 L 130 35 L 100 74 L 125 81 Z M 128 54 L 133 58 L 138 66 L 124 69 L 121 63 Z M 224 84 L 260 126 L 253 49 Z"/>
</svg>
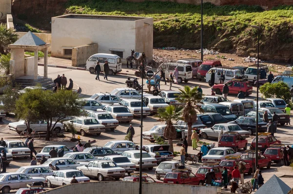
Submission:
<svg viewBox="0 0 293 194">
<path fill-rule="evenodd" d="M 19 168 L 17 173 L 24 173 L 25 175 L 28 175 L 30 177 L 43 177 L 46 178 L 46 176 L 54 175 L 52 171 L 50 171 L 47 167 L 43 167 L 40 165 L 34 165 L 34 166 L 22 166 Z"/>
</svg>

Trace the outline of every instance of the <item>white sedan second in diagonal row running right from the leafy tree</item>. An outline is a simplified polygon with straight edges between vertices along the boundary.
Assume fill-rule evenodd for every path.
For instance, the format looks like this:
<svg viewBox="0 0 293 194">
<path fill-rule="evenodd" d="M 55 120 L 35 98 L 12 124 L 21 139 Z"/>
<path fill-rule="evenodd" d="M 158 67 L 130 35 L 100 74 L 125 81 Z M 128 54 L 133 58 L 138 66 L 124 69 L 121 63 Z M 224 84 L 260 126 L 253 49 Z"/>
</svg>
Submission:
<svg viewBox="0 0 293 194">
<path fill-rule="evenodd" d="M 105 126 L 105 129 L 110 129 L 111 131 L 114 131 L 119 126 L 119 121 L 105 111 L 90 112 L 87 116 L 97 119 L 99 123 Z"/>
</svg>

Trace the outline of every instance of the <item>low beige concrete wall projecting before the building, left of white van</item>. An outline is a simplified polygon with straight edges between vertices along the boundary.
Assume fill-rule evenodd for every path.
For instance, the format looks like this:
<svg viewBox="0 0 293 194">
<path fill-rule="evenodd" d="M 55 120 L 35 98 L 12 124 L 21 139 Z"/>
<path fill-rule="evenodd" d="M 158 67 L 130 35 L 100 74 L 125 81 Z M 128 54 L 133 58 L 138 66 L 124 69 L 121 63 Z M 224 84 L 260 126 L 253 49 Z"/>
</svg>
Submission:
<svg viewBox="0 0 293 194">
<path fill-rule="evenodd" d="M 86 63 L 86 60 L 98 53 L 98 44 L 87 44 L 72 49 L 72 66 L 79 66 Z"/>
</svg>

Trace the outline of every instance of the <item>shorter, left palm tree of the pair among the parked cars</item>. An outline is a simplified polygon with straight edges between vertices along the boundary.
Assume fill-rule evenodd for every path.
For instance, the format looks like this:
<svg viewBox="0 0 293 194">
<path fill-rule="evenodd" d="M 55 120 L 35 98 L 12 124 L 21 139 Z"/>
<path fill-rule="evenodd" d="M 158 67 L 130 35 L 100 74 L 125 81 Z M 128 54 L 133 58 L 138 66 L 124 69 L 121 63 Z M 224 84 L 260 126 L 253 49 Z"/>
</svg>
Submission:
<svg viewBox="0 0 293 194">
<path fill-rule="evenodd" d="M 170 145 L 169 151 L 173 152 L 173 139 L 176 138 L 176 130 L 173 126 L 172 121 L 178 120 L 181 118 L 181 111 L 183 106 L 167 106 L 166 108 L 159 108 L 156 117 L 159 117 L 159 120 L 165 121 L 167 126 L 164 129 L 164 137 L 168 139 L 168 144 Z"/>
</svg>

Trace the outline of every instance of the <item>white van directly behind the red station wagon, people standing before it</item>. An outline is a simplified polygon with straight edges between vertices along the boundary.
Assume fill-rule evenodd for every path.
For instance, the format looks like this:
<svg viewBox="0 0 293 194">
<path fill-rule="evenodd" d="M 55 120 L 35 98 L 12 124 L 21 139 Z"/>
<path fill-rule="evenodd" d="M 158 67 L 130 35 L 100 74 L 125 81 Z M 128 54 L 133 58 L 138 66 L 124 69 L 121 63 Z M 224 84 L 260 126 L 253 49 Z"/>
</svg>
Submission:
<svg viewBox="0 0 293 194">
<path fill-rule="evenodd" d="M 225 82 L 230 81 L 232 78 L 237 76 L 242 76 L 241 71 L 239 69 L 234 69 L 232 67 L 214 67 L 211 68 L 208 73 L 206 74 L 206 82 L 210 82 L 211 78 L 211 71 L 215 74 L 215 84 L 219 84 L 219 78 L 221 76 L 221 73 L 225 76 Z"/>
</svg>

